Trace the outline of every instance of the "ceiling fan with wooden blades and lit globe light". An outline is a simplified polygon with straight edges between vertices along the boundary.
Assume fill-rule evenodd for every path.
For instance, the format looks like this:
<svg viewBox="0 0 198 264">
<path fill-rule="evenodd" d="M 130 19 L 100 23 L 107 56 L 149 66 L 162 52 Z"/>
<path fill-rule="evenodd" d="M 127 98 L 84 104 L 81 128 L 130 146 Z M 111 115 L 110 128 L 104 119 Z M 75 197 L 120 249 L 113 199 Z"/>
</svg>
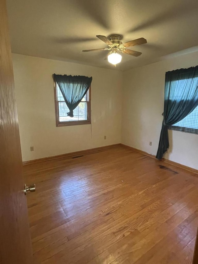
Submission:
<svg viewBox="0 0 198 264">
<path fill-rule="evenodd" d="M 105 59 L 108 59 L 108 61 L 114 65 L 121 62 L 122 56 L 120 55 L 120 53 L 129 54 L 135 57 L 138 57 L 142 54 L 139 51 L 129 50 L 127 49 L 127 47 L 147 43 L 146 39 L 143 37 L 135 39 L 135 40 L 131 40 L 125 43 L 122 43 L 121 35 L 111 35 L 109 39 L 101 35 L 97 35 L 96 37 L 98 37 L 101 41 L 105 42 L 108 45 L 108 47 L 104 49 L 83 50 L 83 52 L 97 51 L 97 50 L 109 50 L 110 52 L 107 54 Z"/>
</svg>

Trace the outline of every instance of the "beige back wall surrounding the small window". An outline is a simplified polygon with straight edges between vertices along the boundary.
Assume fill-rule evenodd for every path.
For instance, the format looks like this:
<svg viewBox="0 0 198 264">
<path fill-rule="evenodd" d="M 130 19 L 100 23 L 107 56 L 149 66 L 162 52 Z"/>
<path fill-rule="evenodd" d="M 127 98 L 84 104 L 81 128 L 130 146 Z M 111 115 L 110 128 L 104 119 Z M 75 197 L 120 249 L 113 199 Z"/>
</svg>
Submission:
<svg viewBox="0 0 198 264">
<path fill-rule="evenodd" d="M 13 69 L 23 161 L 120 143 L 122 72 L 19 54 Z M 93 77 L 92 127 L 56 127 L 53 73 Z"/>
</svg>

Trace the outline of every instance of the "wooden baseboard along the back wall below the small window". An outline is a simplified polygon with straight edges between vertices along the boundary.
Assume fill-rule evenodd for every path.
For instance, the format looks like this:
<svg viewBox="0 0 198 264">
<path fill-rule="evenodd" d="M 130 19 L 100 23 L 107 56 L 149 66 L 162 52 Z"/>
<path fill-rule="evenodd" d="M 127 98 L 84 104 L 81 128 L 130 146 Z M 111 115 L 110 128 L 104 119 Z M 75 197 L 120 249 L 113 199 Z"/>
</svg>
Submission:
<svg viewBox="0 0 198 264">
<path fill-rule="evenodd" d="M 43 161 L 57 159 L 57 158 L 67 158 L 67 159 L 75 158 L 75 157 L 80 156 L 80 155 L 93 154 L 93 153 L 101 152 L 101 151 L 103 151 L 105 149 L 114 148 L 114 147 L 117 147 L 117 146 L 120 146 L 120 145 L 121 144 L 118 143 L 118 144 L 107 145 L 107 146 L 93 148 L 93 149 L 85 149 L 85 150 L 65 153 L 65 154 L 51 156 L 51 157 L 46 157 L 46 158 L 38 158 L 38 159 L 28 160 L 28 161 L 24 161 L 23 165 L 29 165 L 29 164 L 33 164 L 33 163 L 37 163 L 37 162 L 43 162 Z"/>
</svg>

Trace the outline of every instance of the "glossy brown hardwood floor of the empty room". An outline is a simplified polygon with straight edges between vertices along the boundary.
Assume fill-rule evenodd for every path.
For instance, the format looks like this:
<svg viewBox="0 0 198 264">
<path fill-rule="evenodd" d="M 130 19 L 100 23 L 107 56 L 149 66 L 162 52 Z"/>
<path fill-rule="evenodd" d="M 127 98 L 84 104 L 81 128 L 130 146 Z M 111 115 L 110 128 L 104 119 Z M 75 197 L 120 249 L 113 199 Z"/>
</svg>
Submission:
<svg viewBox="0 0 198 264">
<path fill-rule="evenodd" d="M 197 174 L 121 146 L 24 174 L 34 263 L 192 263 Z"/>
</svg>

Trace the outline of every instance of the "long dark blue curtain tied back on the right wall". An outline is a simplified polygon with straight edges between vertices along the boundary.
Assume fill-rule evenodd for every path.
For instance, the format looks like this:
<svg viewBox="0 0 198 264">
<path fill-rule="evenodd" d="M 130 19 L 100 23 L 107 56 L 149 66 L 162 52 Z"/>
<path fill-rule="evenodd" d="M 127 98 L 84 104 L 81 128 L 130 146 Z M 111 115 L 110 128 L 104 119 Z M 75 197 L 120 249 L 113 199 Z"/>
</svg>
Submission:
<svg viewBox="0 0 198 264">
<path fill-rule="evenodd" d="M 198 66 L 166 72 L 164 119 L 156 158 L 169 148 L 168 128 L 181 121 L 198 106 Z"/>
</svg>

